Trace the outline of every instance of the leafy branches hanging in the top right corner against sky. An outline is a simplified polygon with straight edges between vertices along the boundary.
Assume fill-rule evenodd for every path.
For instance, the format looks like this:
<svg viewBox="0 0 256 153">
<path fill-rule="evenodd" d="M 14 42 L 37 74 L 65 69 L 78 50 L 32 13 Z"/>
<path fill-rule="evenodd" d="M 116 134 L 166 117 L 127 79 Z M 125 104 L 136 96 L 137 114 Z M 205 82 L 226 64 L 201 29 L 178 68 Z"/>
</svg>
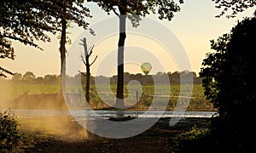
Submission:
<svg viewBox="0 0 256 153">
<path fill-rule="evenodd" d="M 216 3 L 216 8 L 222 8 L 222 12 L 218 14 L 216 17 L 223 16 L 227 14 L 229 10 L 230 14 L 227 15 L 227 18 L 234 18 L 236 14 L 243 12 L 247 8 L 253 8 L 256 5 L 255 0 L 212 0 Z"/>
</svg>

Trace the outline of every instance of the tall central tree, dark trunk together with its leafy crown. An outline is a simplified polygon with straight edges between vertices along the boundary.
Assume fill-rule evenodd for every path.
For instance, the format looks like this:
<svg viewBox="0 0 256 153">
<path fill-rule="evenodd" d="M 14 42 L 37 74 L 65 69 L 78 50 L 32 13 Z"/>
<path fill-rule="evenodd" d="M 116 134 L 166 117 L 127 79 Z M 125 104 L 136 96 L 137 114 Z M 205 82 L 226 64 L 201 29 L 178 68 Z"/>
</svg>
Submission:
<svg viewBox="0 0 256 153">
<path fill-rule="evenodd" d="M 140 16 L 156 11 L 160 20 L 172 20 L 174 12 L 178 12 L 180 8 L 173 0 L 87 0 L 88 2 L 97 3 L 108 14 L 113 11 L 119 16 L 119 42 L 118 42 L 118 82 L 116 91 L 116 107 L 125 108 L 124 105 L 124 51 L 125 51 L 125 22 L 128 17 L 134 27 L 139 25 Z M 179 0 L 183 3 L 183 0 Z M 156 10 L 157 9 L 157 10 Z"/>
</svg>

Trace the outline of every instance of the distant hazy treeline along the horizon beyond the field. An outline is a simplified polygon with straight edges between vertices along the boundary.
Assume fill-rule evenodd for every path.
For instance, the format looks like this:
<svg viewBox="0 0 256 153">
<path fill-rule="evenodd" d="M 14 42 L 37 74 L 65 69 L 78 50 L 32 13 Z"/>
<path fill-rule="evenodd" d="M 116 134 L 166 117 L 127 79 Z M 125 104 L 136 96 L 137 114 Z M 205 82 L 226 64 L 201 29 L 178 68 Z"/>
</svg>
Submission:
<svg viewBox="0 0 256 153">
<path fill-rule="evenodd" d="M 201 83 L 201 77 L 197 77 L 194 71 L 174 71 L 174 72 L 158 72 L 155 75 L 143 75 L 142 73 L 130 74 L 125 72 L 125 84 L 131 80 L 137 80 L 142 84 L 154 84 L 154 83 L 165 83 L 166 78 L 169 79 L 171 83 Z M 182 79 L 181 79 L 182 78 Z M 68 82 L 77 82 L 81 79 L 81 83 L 85 84 L 86 77 L 84 74 L 78 73 L 74 77 L 66 77 Z M 32 71 L 27 71 L 24 75 L 20 73 L 15 73 L 15 75 L 10 80 L 5 80 L 5 82 L 15 82 L 15 83 L 38 83 L 38 84 L 59 84 L 61 83 L 60 75 L 45 75 L 44 77 L 36 77 Z M 116 84 L 117 76 L 113 77 L 90 77 L 90 84 L 100 83 L 100 84 Z"/>
</svg>

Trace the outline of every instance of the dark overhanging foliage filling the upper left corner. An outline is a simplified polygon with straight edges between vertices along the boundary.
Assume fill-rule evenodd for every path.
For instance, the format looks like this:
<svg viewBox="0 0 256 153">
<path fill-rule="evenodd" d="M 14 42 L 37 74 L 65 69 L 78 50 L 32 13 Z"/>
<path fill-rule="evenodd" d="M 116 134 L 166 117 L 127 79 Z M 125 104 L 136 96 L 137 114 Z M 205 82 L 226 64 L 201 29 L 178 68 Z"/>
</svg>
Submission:
<svg viewBox="0 0 256 153">
<path fill-rule="evenodd" d="M 71 20 L 87 28 L 91 17 L 81 0 L 1 0 L 0 58 L 15 59 L 11 40 L 40 48 L 35 41 L 50 42 L 48 33 L 61 31 L 61 19 Z M 64 14 L 65 12 L 65 14 Z M 12 74 L 0 67 L 0 76 Z"/>
</svg>

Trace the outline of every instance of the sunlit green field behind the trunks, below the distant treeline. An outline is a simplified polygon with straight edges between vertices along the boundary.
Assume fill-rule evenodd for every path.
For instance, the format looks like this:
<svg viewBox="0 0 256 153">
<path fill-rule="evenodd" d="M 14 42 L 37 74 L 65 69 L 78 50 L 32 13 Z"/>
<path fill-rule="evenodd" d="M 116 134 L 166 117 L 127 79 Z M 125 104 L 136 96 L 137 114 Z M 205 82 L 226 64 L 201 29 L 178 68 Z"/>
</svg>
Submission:
<svg viewBox="0 0 256 153">
<path fill-rule="evenodd" d="M 143 85 L 139 88 L 136 85 L 131 85 L 127 89 L 125 86 L 125 104 L 130 105 L 131 109 L 148 109 L 148 106 L 151 105 L 152 100 L 154 99 L 157 104 L 160 104 L 163 100 L 169 101 L 167 110 L 172 111 L 178 100 L 178 96 L 180 95 L 180 88 L 188 85 L 179 85 L 173 84 L 171 85 L 171 92 L 167 92 L 168 89 L 166 85 Z M 83 87 L 84 88 L 84 87 Z M 156 92 L 154 92 L 154 88 Z M 60 93 L 60 85 L 58 84 L 14 84 L 14 83 L 1 83 L 0 84 L 0 106 L 1 107 L 9 107 L 13 105 L 14 100 L 19 98 L 22 94 L 58 94 Z M 111 85 L 109 88 L 107 85 L 99 85 L 95 86 L 92 85 L 90 88 L 90 106 L 93 109 L 108 109 L 108 103 L 113 103 L 115 101 L 114 94 L 115 94 L 116 86 Z M 78 86 L 69 86 L 67 87 L 68 93 L 77 94 L 79 93 Z M 130 95 L 128 95 L 128 91 Z M 212 104 L 205 98 L 203 94 L 204 90 L 201 87 L 201 84 L 194 84 L 193 85 L 193 92 L 191 94 L 191 99 L 189 102 L 188 111 L 216 111 L 213 108 Z M 137 94 L 138 94 L 138 101 L 137 101 Z M 185 92 L 183 95 L 186 94 Z M 155 96 L 155 97 L 154 97 Z M 37 102 L 35 100 L 35 102 Z M 107 103 L 107 104 L 106 104 Z"/>
</svg>

